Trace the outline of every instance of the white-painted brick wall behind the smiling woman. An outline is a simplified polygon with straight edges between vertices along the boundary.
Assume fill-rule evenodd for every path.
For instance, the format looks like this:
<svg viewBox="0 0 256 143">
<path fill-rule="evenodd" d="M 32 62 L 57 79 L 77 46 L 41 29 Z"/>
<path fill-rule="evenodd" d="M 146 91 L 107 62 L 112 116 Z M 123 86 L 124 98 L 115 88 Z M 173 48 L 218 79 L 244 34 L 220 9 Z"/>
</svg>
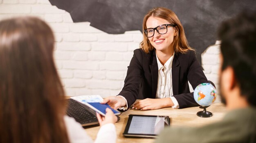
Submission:
<svg viewBox="0 0 256 143">
<path fill-rule="evenodd" d="M 90 22 L 73 23 L 69 13 L 48 0 L 0 0 L 0 20 L 19 15 L 40 17 L 52 27 L 56 67 L 67 95 L 106 97 L 121 91 L 133 50 L 142 40 L 139 30 L 107 34 Z M 217 87 L 218 54 L 218 45 L 202 54 L 204 73 Z"/>
</svg>

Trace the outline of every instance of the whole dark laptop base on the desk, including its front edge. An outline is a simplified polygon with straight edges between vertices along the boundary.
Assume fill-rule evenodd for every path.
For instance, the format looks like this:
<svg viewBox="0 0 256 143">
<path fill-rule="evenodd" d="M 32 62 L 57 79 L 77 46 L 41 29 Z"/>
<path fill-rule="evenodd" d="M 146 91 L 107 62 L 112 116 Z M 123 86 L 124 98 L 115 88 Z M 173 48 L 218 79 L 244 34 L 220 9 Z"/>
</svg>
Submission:
<svg viewBox="0 0 256 143">
<path fill-rule="evenodd" d="M 99 126 L 98 119 L 94 110 L 73 99 L 66 99 L 66 114 L 73 117 L 83 128 Z"/>
</svg>

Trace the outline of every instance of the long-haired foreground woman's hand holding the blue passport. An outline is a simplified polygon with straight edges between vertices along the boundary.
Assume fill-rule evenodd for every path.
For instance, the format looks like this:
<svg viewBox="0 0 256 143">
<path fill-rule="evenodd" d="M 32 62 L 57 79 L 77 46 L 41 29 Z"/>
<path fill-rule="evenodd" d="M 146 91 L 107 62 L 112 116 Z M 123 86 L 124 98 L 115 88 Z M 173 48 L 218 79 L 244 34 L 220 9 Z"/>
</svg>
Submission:
<svg viewBox="0 0 256 143">
<path fill-rule="evenodd" d="M 99 125 L 103 126 L 105 124 L 112 123 L 114 124 L 117 122 L 117 116 L 113 113 L 113 111 L 110 108 L 106 108 L 106 115 L 105 117 L 100 115 L 99 113 L 96 112 L 97 119 L 99 121 Z"/>
</svg>

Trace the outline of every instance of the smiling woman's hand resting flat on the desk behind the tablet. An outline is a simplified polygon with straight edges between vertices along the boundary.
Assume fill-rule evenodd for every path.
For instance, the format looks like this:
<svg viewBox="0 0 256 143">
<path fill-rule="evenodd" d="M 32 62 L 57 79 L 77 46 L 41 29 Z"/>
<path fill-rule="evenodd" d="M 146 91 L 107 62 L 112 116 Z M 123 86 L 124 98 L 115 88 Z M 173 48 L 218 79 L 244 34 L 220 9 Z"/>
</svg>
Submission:
<svg viewBox="0 0 256 143">
<path fill-rule="evenodd" d="M 132 109 L 135 110 L 155 110 L 164 107 L 173 106 L 173 101 L 171 98 L 161 98 L 161 99 L 152 99 L 146 98 L 144 100 L 140 100 L 134 104 Z"/>
</svg>

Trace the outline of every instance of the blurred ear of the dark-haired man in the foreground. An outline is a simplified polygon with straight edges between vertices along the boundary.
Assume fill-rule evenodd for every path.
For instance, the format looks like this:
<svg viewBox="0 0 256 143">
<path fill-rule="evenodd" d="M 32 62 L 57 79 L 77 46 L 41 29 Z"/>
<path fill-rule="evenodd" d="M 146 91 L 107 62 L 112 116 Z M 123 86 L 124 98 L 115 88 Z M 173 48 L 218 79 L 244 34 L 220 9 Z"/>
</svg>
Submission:
<svg viewBox="0 0 256 143">
<path fill-rule="evenodd" d="M 235 72 L 232 67 L 227 67 L 222 71 L 222 86 L 226 90 L 232 90 L 236 87 Z"/>
</svg>

